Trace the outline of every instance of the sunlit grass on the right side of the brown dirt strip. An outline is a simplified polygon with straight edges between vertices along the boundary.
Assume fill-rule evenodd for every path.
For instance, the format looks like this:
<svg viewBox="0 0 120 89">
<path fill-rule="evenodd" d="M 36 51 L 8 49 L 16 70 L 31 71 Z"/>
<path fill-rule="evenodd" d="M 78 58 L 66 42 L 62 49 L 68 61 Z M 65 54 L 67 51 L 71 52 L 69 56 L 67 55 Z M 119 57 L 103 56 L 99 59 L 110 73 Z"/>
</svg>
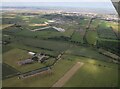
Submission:
<svg viewBox="0 0 120 89">
<path fill-rule="evenodd" d="M 67 55 L 65 56 L 65 58 Z M 84 65 L 64 85 L 64 87 L 116 87 L 118 86 L 118 65 L 90 58 L 75 57 Z"/>
</svg>

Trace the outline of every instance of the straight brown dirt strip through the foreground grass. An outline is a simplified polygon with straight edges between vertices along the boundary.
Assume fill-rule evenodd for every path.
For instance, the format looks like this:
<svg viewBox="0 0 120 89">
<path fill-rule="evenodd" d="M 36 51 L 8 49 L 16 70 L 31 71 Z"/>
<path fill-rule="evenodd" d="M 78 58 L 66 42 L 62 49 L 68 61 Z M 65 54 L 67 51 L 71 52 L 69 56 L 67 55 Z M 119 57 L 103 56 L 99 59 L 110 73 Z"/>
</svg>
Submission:
<svg viewBox="0 0 120 89">
<path fill-rule="evenodd" d="M 84 63 L 77 62 L 62 78 L 60 78 L 52 87 L 62 87 L 83 65 Z M 51 88 L 52 89 L 52 88 Z"/>
</svg>

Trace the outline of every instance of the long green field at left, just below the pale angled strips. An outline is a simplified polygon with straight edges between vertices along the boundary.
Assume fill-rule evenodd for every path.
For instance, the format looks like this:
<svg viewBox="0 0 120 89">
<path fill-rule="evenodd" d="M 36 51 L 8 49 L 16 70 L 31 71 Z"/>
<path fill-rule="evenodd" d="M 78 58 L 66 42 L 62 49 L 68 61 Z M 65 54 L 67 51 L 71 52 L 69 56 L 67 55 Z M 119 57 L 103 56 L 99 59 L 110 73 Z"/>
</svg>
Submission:
<svg viewBox="0 0 120 89">
<path fill-rule="evenodd" d="M 34 27 L 34 28 L 39 28 L 39 27 Z M 29 37 L 29 38 L 50 38 L 50 37 L 59 37 L 59 36 L 64 36 L 69 34 L 68 32 L 66 33 L 60 33 L 56 31 L 53 28 L 48 28 L 42 31 L 30 31 L 34 29 L 33 27 L 8 27 L 6 28 L 3 33 L 8 34 L 8 35 L 14 35 L 14 36 L 21 36 L 21 37 Z"/>
</svg>

